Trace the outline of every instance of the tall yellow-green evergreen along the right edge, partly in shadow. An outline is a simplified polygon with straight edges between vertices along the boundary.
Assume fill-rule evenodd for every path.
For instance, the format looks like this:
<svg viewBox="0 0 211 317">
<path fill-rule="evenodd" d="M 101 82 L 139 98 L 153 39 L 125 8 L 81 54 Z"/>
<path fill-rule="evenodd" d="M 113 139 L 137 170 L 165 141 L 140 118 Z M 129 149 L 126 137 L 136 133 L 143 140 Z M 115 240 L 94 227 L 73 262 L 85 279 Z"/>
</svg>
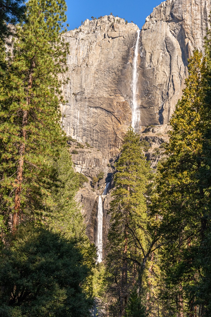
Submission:
<svg viewBox="0 0 211 317">
<path fill-rule="evenodd" d="M 211 174 L 205 145 L 209 129 L 205 107 L 206 60 L 195 50 L 189 60 L 189 78 L 170 120 L 173 131 L 168 159 L 160 168 L 154 212 L 163 235 L 163 269 L 172 311 L 179 317 L 195 314 L 192 285 L 200 279 L 198 250 L 205 241 L 210 219 Z M 200 313 L 199 316 L 203 314 Z"/>
</svg>

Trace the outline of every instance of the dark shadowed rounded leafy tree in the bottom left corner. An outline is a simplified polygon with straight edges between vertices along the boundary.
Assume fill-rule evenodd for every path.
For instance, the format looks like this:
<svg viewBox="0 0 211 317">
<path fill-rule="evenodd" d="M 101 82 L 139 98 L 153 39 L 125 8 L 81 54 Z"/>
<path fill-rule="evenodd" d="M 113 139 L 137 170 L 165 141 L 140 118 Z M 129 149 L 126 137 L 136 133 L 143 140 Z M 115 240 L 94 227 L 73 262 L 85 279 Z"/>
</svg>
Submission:
<svg viewBox="0 0 211 317">
<path fill-rule="evenodd" d="M 0 252 L 0 315 L 89 316 L 90 268 L 76 243 L 43 228 L 19 227 Z"/>
</svg>

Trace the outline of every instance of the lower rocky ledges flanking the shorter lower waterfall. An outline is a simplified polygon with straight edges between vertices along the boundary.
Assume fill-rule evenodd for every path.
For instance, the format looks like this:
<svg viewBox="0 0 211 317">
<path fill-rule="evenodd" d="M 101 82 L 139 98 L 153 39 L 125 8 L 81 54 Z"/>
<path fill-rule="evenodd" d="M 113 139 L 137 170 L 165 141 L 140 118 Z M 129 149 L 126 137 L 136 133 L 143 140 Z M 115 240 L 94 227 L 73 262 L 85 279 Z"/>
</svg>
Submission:
<svg viewBox="0 0 211 317">
<path fill-rule="evenodd" d="M 83 144 L 74 140 L 68 141 L 69 151 L 72 155 L 74 169 L 77 172 L 86 175 L 88 181 L 76 194 L 76 202 L 80 205 L 84 221 L 86 223 L 86 233 L 91 243 L 96 243 L 98 228 L 98 203 L 99 196 L 103 194 L 106 183 L 109 183 L 107 195 L 101 196 L 103 206 L 103 254 L 105 254 L 106 237 L 109 229 L 110 217 L 108 214 L 111 202 L 112 174 L 114 171 L 115 158 L 109 161 L 102 153 L 89 144 Z M 95 185 L 93 178 L 99 174 L 103 177 Z"/>
</svg>

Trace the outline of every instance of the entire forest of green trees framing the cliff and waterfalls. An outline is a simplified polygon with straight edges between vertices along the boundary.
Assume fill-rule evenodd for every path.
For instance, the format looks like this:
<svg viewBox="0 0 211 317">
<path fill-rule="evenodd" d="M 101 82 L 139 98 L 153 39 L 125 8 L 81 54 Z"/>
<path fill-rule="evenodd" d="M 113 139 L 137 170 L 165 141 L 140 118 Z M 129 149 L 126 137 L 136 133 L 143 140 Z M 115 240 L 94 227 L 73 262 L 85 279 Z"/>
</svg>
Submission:
<svg viewBox="0 0 211 317">
<path fill-rule="evenodd" d="M 87 178 L 61 130 L 66 9 L 64 0 L 0 3 L 0 315 L 85 317 L 97 303 L 107 317 L 209 317 L 211 32 L 205 55 L 189 59 L 156 170 L 147 142 L 125 134 L 96 263 L 74 199 Z M 8 23 L 17 23 L 10 50 Z"/>
</svg>

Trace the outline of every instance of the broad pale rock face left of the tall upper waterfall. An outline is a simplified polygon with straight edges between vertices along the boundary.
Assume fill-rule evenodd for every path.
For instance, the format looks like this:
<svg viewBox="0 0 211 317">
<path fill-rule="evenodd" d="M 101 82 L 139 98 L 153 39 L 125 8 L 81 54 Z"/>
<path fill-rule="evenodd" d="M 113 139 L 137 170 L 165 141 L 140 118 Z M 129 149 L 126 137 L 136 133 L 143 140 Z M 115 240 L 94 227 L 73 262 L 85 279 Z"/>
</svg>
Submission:
<svg viewBox="0 0 211 317">
<path fill-rule="evenodd" d="M 104 16 L 86 20 L 64 35 L 70 44 L 64 78 L 70 81 L 64 86 L 63 128 L 107 157 L 117 154 L 131 124 L 132 47 L 137 29 L 124 19 Z"/>
</svg>

